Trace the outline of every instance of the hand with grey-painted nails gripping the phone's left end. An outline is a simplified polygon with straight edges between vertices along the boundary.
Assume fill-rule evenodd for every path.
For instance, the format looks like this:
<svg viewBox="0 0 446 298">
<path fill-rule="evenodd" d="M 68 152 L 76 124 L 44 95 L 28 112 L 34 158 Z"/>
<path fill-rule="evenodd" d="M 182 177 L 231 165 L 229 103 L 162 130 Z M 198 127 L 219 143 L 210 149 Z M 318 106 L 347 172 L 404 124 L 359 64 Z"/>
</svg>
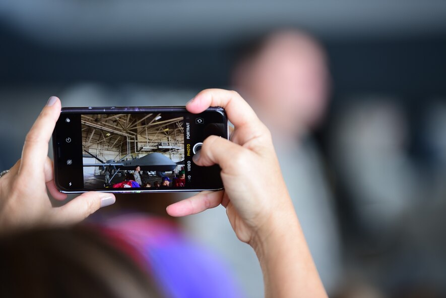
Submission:
<svg viewBox="0 0 446 298">
<path fill-rule="evenodd" d="M 47 190 L 56 200 L 67 198 L 56 189 L 53 162 L 48 157 L 48 142 L 60 109 L 60 100 L 50 97 L 26 136 L 22 158 L 0 177 L 0 233 L 36 225 L 76 223 L 115 201 L 112 194 L 89 192 L 61 207 L 51 206 Z"/>
</svg>

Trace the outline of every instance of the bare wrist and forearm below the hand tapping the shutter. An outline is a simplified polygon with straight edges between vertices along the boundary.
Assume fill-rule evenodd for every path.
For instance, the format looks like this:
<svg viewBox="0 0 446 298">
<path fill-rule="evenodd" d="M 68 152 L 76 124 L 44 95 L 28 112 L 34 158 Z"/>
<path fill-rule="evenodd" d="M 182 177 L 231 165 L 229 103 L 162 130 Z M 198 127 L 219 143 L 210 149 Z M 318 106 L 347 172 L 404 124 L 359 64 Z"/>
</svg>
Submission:
<svg viewBox="0 0 446 298">
<path fill-rule="evenodd" d="M 271 214 L 249 245 L 259 259 L 266 297 L 327 297 L 290 202 Z"/>
</svg>

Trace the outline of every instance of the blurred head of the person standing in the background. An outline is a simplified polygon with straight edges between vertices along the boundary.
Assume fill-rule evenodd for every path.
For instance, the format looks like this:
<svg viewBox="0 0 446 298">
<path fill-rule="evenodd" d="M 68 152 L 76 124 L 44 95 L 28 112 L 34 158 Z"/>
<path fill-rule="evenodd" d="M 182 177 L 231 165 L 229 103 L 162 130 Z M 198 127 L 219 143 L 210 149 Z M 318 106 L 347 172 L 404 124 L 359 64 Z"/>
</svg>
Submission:
<svg viewBox="0 0 446 298">
<path fill-rule="evenodd" d="M 267 125 L 292 134 L 315 126 L 328 102 L 325 51 L 298 30 L 277 31 L 247 46 L 232 81 Z"/>
</svg>

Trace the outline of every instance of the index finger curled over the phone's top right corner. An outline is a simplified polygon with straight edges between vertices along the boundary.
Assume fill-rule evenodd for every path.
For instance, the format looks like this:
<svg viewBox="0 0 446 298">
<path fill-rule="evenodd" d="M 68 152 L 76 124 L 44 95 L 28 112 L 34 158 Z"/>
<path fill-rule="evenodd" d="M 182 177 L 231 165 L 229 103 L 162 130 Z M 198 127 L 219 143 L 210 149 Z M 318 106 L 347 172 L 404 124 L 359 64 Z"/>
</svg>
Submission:
<svg viewBox="0 0 446 298">
<path fill-rule="evenodd" d="M 240 128 L 246 125 L 261 124 L 254 110 L 236 91 L 206 89 L 198 93 L 186 104 L 192 113 L 201 113 L 210 106 L 220 106 L 226 110 L 229 121 Z"/>
</svg>

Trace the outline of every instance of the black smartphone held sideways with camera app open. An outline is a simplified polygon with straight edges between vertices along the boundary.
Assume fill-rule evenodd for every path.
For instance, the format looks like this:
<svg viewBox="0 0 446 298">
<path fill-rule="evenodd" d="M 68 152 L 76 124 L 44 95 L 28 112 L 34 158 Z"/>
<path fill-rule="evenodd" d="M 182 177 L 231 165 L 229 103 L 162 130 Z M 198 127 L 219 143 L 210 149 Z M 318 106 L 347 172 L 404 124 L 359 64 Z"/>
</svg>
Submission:
<svg viewBox="0 0 446 298">
<path fill-rule="evenodd" d="M 65 107 L 52 140 L 62 193 L 220 190 L 220 167 L 192 157 L 210 135 L 228 139 L 223 108 Z"/>
</svg>

